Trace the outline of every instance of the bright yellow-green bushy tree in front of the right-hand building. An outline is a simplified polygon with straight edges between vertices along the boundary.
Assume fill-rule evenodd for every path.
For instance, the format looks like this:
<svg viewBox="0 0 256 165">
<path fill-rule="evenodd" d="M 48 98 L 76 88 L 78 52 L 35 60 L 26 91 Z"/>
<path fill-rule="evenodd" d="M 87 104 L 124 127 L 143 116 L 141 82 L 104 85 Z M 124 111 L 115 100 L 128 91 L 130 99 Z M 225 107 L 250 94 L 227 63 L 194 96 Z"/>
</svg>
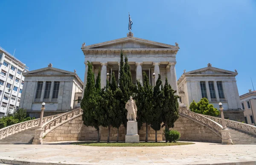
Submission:
<svg viewBox="0 0 256 165">
<path fill-rule="evenodd" d="M 201 100 L 198 103 L 196 103 L 195 100 L 193 100 L 189 106 L 189 109 L 192 112 L 209 115 L 209 116 L 216 117 L 220 115 L 220 112 L 218 111 L 218 109 L 214 108 L 213 104 L 209 104 L 209 101 L 207 98 L 201 98 Z"/>
</svg>

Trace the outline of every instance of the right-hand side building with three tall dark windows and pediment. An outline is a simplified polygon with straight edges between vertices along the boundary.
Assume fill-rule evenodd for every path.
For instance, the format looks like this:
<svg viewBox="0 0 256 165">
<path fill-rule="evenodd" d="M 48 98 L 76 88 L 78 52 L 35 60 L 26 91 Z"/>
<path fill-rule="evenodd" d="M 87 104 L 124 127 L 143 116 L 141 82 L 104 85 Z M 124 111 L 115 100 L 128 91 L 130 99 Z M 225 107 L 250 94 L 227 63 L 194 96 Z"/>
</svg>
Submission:
<svg viewBox="0 0 256 165">
<path fill-rule="evenodd" d="M 203 97 L 217 108 L 218 103 L 222 102 L 225 118 L 244 121 L 236 75 L 238 75 L 236 70 L 233 72 L 215 68 L 210 63 L 205 68 L 184 71 L 177 81 L 180 101 L 188 109 L 193 100 L 198 102 Z"/>
</svg>

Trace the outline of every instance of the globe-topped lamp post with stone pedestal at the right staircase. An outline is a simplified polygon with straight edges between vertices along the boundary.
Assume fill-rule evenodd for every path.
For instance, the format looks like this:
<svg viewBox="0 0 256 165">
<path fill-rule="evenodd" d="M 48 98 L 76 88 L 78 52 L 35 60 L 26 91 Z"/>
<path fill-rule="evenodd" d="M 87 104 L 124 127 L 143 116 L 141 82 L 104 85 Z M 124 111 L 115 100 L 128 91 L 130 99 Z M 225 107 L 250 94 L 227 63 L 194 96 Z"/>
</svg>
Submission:
<svg viewBox="0 0 256 165">
<path fill-rule="evenodd" d="M 225 122 L 225 118 L 224 118 L 222 103 L 219 103 L 219 108 L 220 108 L 220 111 L 221 111 L 221 123 L 222 123 L 222 127 L 223 127 L 223 129 L 221 130 L 221 137 L 222 137 L 222 143 L 221 144 L 223 144 L 223 145 L 233 145 L 233 142 L 232 142 L 232 139 L 231 139 L 231 136 L 230 136 L 230 131 L 226 127 L 226 122 Z"/>
</svg>

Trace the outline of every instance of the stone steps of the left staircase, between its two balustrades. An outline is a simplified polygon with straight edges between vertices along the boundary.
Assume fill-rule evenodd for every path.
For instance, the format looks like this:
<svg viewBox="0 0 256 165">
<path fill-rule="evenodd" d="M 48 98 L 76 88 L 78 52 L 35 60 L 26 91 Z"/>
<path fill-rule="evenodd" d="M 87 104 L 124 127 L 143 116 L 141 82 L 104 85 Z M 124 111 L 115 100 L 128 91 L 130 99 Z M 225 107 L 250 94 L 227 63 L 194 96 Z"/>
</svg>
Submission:
<svg viewBox="0 0 256 165">
<path fill-rule="evenodd" d="M 37 127 L 32 127 L 21 132 L 14 133 L 12 135 L 6 136 L 0 139 L 0 145 L 3 144 L 31 144 Z"/>
</svg>

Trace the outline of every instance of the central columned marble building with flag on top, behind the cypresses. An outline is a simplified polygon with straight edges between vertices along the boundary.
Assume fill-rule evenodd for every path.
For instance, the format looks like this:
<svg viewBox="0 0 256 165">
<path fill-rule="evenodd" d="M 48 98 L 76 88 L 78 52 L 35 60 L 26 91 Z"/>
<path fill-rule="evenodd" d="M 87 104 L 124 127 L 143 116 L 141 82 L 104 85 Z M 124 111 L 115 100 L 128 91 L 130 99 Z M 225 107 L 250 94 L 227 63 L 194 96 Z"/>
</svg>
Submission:
<svg viewBox="0 0 256 165">
<path fill-rule="evenodd" d="M 149 77 L 150 83 L 155 84 L 158 74 L 161 75 L 163 83 L 168 78 L 169 83 L 174 90 L 177 90 L 177 78 L 175 71 L 176 54 L 179 46 L 148 41 L 141 38 L 133 37 L 133 33 L 129 32 L 127 37 L 120 38 L 103 43 L 97 43 L 81 47 L 84 52 L 84 87 L 87 82 L 87 61 L 92 62 L 93 72 L 98 75 L 101 69 L 101 87 L 105 87 L 107 73 L 115 72 L 115 77 L 119 76 L 120 51 L 128 56 L 128 63 L 131 68 L 132 81 L 135 84 L 136 79 L 143 82 L 143 74 L 145 71 Z M 111 72 L 112 71 L 112 72 Z M 155 73 L 155 78 L 153 78 Z M 111 81 L 111 80 L 110 80 Z M 178 93 L 176 93 L 178 95 Z"/>
</svg>

